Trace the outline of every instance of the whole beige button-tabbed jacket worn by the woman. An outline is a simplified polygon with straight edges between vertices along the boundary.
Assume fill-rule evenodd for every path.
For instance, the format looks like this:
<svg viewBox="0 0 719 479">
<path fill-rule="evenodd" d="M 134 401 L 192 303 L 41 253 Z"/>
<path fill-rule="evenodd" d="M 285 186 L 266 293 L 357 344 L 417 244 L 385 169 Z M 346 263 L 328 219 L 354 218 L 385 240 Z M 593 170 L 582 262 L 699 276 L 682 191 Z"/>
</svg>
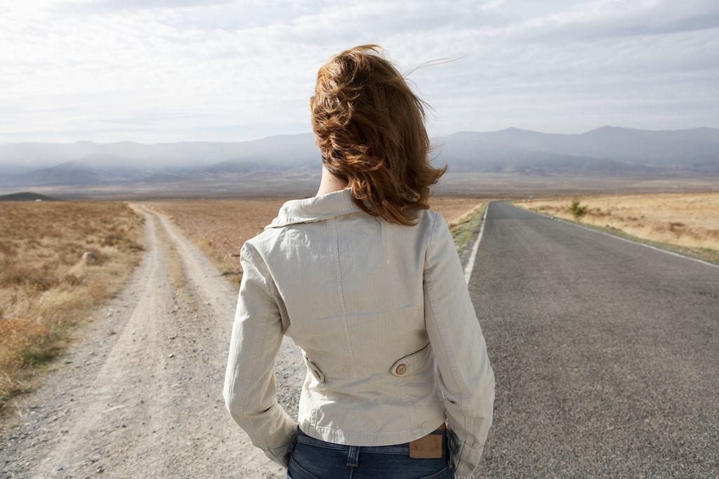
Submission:
<svg viewBox="0 0 719 479">
<path fill-rule="evenodd" d="M 349 190 L 285 203 L 242 247 L 224 398 L 252 444 L 287 465 L 296 425 L 275 398 L 283 334 L 308 368 L 298 420 L 311 437 L 376 446 L 445 419 L 458 477 L 477 467 L 494 374 L 452 236 L 370 216 Z"/>
</svg>

